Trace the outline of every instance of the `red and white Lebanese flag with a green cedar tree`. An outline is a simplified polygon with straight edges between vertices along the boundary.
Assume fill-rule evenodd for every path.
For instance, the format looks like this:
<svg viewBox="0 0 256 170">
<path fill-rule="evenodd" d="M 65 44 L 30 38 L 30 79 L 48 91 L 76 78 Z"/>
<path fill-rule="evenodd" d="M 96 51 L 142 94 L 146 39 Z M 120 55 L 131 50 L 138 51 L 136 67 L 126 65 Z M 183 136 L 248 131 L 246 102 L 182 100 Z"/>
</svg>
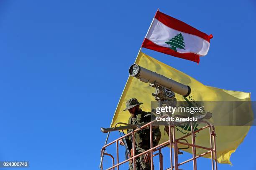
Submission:
<svg viewBox="0 0 256 170">
<path fill-rule="evenodd" d="M 212 37 L 157 11 L 141 47 L 199 63 Z"/>
</svg>

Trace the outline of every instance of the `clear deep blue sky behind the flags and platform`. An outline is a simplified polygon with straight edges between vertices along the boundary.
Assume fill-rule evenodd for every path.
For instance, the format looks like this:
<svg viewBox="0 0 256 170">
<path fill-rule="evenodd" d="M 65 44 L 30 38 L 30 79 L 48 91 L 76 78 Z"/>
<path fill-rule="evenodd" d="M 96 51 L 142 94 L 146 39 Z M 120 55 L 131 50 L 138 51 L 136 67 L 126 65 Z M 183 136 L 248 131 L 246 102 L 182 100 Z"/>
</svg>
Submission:
<svg viewBox="0 0 256 170">
<path fill-rule="evenodd" d="M 31 170 L 97 170 L 106 138 L 100 127 L 110 125 L 157 8 L 212 34 L 210 50 L 199 65 L 143 52 L 205 85 L 251 92 L 256 100 L 253 0 L 1 0 L 0 160 L 28 160 Z M 232 167 L 218 168 L 256 169 L 255 133 L 252 127 L 232 154 Z M 209 163 L 203 158 L 199 168 Z"/>
</svg>

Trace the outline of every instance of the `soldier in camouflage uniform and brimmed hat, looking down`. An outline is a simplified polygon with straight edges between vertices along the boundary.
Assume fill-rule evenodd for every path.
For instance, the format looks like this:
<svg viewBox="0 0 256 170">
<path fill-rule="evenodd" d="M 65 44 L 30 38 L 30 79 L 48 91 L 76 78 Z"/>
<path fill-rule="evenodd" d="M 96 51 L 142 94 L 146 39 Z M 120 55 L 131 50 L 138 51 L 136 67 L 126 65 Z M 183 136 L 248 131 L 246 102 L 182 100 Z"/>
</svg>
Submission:
<svg viewBox="0 0 256 170">
<path fill-rule="evenodd" d="M 135 125 L 138 123 L 146 123 L 151 121 L 151 112 L 142 111 L 141 108 L 139 107 L 139 105 L 141 104 L 143 103 L 138 102 L 136 98 L 131 98 L 127 100 L 125 110 L 128 110 L 131 114 L 128 124 Z M 132 130 L 129 130 L 128 133 L 131 131 Z M 153 127 L 152 134 L 153 134 L 153 147 L 155 147 L 156 145 L 158 145 L 159 140 L 161 138 L 161 132 L 160 132 L 159 126 Z M 131 143 L 131 137 L 128 137 L 128 140 Z M 134 133 L 134 140 L 135 140 L 135 146 L 136 146 L 136 155 L 150 149 L 149 129 L 142 129 Z M 120 140 L 120 145 L 124 145 L 122 140 Z M 133 156 L 132 149 L 131 149 L 131 156 Z M 133 170 L 132 161 L 129 161 L 129 169 Z M 136 158 L 136 170 L 151 170 L 150 152 L 144 155 L 141 155 L 139 158 Z"/>
</svg>

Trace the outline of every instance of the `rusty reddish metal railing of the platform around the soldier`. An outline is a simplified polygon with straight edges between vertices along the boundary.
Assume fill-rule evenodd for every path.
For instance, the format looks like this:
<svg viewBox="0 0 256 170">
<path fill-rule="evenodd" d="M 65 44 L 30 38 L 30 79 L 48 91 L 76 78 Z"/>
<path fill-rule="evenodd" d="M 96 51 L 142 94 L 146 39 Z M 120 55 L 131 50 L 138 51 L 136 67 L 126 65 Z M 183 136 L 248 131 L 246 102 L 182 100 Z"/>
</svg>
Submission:
<svg viewBox="0 0 256 170">
<path fill-rule="evenodd" d="M 161 143 L 155 147 L 153 147 L 153 135 L 152 135 L 152 124 L 155 122 L 156 120 L 152 121 L 152 122 L 148 122 L 146 125 L 141 126 L 140 128 L 137 128 L 136 130 L 133 130 L 131 133 L 128 133 L 126 135 L 123 135 L 122 137 L 108 143 L 107 145 L 103 146 L 101 149 L 101 156 L 102 155 L 108 155 L 112 158 L 112 167 L 107 168 L 106 170 L 115 170 L 115 168 L 117 170 L 119 170 L 119 166 L 128 162 L 128 161 L 133 161 L 133 169 L 136 169 L 136 158 L 138 158 L 141 155 L 144 155 L 146 153 L 150 153 L 151 156 L 151 167 L 154 167 L 153 165 L 153 157 L 156 155 L 159 155 L 159 169 L 163 170 L 163 154 L 161 153 L 161 149 L 165 148 L 167 146 L 172 146 L 174 149 L 172 151 L 172 147 L 169 147 L 170 150 L 170 168 L 168 168 L 167 170 L 179 170 L 179 166 L 183 165 L 184 163 L 188 163 L 190 161 L 193 161 L 193 170 L 197 170 L 197 158 L 200 158 L 204 155 L 207 155 L 209 153 L 211 153 L 211 163 L 212 163 L 212 170 L 217 170 L 217 153 L 216 153 L 216 142 L 215 142 L 215 128 L 213 125 L 211 125 L 210 123 L 200 120 L 201 123 L 205 123 L 206 126 L 195 130 L 194 131 L 194 127 L 193 127 L 193 123 L 190 122 L 190 126 L 191 126 L 191 133 L 188 133 L 187 135 L 182 136 L 181 138 L 176 139 L 175 138 L 175 122 L 171 122 L 169 121 L 169 140 L 167 140 L 164 143 Z M 153 125 L 154 126 L 154 125 Z M 150 148 L 148 150 L 146 150 L 143 153 L 139 153 L 138 155 L 136 155 L 136 151 L 135 151 L 135 141 L 134 141 L 134 133 L 136 133 L 137 131 L 143 129 L 143 128 L 149 128 L 149 132 L 150 132 Z M 195 143 L 195 133 L 200 132 L 201 130 L 204 130 L 206 128 L 209 128 L 209 133 L 210 133 L 210 148 L 207 147 L 203 147 L 203 146 L 199 146 L 196 145 Z M 132 135 L 132 150 L 133 150 L 133 156 L 131 158 L 128 158 L 127 160 L 124 160 L 122 162 L 119 162 L 119 144 L 118 141 L 125 138 L 128 135 Z M 184 143 L 181 142 L 181 140 L 185 140 L 184 138 L 187 138 L 191 136 L 192 139 L 192 144 L 191 143 Z M 187 140 L 186 140 L 187 141 Z M 115 159 L 114 156 L 109 154 L 109 153 L 104 153 L 104 150 L 106 150 L 106 148 L 110 145 L 116 145 L 116 164 L 115 164 Z M 178 153 L 179 153 L 179 148 L 178 148 L 178 144 L 182 144 L 182 145 L 187 145 L 189 147 L 192 147 L 192 158 L 188 159 L 182 163 L 178 163 Z M 200 155 L 196 155 L 196 148 L 202 148 L 207 150 L 207 152 L 202 153 Z M 154 154 L 154 152 L 157 152 L 156 154 Z M 152 169 L 152 168 L 151 168 Z M 154 168 L 153 168 L 154 169 Z M 103 165 L 101 167 L 101 170 L 103 170 Z"/>
</svg>

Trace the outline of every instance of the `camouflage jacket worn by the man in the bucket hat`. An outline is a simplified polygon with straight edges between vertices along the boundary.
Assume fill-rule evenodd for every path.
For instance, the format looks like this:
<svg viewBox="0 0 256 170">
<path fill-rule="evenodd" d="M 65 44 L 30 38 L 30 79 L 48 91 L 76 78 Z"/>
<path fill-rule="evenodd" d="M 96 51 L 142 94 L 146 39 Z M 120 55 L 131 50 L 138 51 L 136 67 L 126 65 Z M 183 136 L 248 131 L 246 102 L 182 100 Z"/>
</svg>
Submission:
<svg viewBox="0 0 256 170">
<path fill-rule="evenodd" d="M 142 110 L 139 110 L 136 117 L 130 117 L 128 124 L 138 124 L 138 123 L 147 123 L 151 121 L 151 112 L 144 112 Z M 152 115 L 154 116 L 154 115 Z M 131 132 L 132 130 L 129 130 Z M 159 129 L 159 126 L 153 127 L 153 147 L 158 145 L 159 140 L 161 138 L 161 132 Z M 131 140 L 131 137 L 129 137 L 129 140 Z M 139 149 L 148 149 L 150 148 L 150 133 L 149 128 L 148 129 L 142 129 L 138 130 L 136 133 L 134 133 L 134 140 L 136 142 L 136 150 Z"/>
</svg>

